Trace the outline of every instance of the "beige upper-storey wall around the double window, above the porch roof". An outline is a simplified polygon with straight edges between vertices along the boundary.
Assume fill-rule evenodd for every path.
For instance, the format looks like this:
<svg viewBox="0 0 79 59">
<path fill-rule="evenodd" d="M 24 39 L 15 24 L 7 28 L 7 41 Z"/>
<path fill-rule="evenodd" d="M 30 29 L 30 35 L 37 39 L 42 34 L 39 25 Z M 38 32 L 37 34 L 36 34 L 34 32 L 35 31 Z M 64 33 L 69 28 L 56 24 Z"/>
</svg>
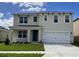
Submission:
<svg viewBox="0 0 79 59">
<path fill-rule="evenodd" d="M 25 16 L 24 14 L 23 15 L 20 15 L 20 16 Z M 33 21 L 33 17 L 34 17 L 34 15 L 27 15 L 26 14 L 26 16 L 28 17 L 28 23 L 26 23 L 26 24 L 21 24 L 20 22 L 19 22 L 19 17 L 20 16 L 18 16 L 18 15 L 14 15 L 14 26 L 17 26 L 17 25 L 38 25 L 38 20 L 37 20 L 37 22 L 34 22 Z M 35 15 L 36 16 L 36 15 Z M 37 17 L 37 18 L 39 18 L 39 17 Z"/>
</svg>

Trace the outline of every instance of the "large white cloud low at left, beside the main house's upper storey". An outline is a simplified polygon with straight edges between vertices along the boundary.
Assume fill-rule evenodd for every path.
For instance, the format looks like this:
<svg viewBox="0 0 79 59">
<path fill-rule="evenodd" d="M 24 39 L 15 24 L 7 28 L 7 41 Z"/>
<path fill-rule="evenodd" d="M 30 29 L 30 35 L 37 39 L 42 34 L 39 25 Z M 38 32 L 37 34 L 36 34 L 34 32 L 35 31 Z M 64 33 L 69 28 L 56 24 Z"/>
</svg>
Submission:
<svg viewBox="0 0 79 59">
<path fill-rule="evenodd" d="M 0 19 L 0 26 L 8 28 L 9 26 L 13 26 L 13 17 L 9 19 Z"/>
</svg>

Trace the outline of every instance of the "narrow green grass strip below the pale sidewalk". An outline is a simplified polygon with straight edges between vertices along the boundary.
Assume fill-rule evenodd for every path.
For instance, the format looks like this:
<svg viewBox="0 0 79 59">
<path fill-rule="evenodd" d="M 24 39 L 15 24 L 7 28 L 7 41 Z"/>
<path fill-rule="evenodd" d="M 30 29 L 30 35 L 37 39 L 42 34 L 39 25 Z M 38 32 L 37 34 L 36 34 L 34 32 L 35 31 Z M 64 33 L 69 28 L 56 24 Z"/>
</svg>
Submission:
<svg viewBox="0 0 79 59">
<path fill-rule="evenodd" d="M 0 57 L 42 57 L 44 54 L 0 53 Z"/>
</svg>

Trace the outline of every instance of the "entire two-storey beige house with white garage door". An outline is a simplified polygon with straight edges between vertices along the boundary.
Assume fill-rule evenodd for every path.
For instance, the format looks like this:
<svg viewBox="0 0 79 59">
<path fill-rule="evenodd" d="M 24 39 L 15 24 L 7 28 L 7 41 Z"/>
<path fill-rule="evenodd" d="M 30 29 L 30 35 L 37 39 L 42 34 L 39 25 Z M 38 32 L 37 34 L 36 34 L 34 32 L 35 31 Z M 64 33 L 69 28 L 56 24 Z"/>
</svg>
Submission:
<svg viewBox="0 0 79 59">
<path fill-rule="evenodd" d="M 73 13 L 15 13 L 11 42 L 73 43 Z"/>
</svg>

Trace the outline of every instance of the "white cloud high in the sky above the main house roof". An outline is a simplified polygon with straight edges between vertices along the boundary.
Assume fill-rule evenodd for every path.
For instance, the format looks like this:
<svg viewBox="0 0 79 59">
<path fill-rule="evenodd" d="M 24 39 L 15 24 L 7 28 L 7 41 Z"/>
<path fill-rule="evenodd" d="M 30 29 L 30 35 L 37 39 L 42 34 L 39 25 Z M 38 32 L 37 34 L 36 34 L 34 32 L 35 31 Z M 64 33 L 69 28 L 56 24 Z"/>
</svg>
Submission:
<svg viewBox="0 0 79 59">
<path fill-rule="evenodd" d="M 46 2 L 12 2 L 12 4 L 18 4 L 19 7 L 23 7 L 21 9 L 22 12 L 31 11 L 31 12 L 39 12 L 39 11 L 46 11 L 46 8 L 43 6 Z"/>
</svg>

